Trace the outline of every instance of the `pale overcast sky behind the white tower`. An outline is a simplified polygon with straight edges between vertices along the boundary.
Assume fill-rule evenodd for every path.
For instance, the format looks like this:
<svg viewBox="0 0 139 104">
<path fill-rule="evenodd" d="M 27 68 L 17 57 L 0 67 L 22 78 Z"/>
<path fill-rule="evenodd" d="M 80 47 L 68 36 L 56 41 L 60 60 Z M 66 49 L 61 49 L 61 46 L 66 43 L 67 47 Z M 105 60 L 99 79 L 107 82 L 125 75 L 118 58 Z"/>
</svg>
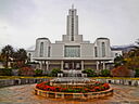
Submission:
<svg viewBox="0 0 139 104">
<path fill-rule="evenodd" d="M 0 0 L 0 48 L 27 49 L 40 37 L 61 40 L 72 3 L 85 40 L 108 37 L 122 46 L 139 38 L 139 0 Z"/>
</svg>

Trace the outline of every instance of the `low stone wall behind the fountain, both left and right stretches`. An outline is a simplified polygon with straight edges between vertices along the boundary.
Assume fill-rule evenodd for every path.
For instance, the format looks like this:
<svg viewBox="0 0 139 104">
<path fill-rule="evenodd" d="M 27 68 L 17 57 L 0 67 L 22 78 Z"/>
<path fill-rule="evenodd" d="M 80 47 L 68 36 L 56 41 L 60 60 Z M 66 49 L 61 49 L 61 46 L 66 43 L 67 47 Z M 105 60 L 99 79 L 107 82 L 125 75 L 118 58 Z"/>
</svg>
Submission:
<svg viewBox="0 0 139 104">
<path fill-rule="evenodd" d="M 17 86 L 17 84 L 28 84 L 28 83 L 37 83 L 50 80 L 51 78 L 18 78 L 18 79 L 0 79 L 0 87 L 8 86 Z M 96 79 L 97 81 L 113 83 L 113 84 L 126 84 L 126 86 L 138 86 L 139 80 L 131 79 Z"/>
</svg>

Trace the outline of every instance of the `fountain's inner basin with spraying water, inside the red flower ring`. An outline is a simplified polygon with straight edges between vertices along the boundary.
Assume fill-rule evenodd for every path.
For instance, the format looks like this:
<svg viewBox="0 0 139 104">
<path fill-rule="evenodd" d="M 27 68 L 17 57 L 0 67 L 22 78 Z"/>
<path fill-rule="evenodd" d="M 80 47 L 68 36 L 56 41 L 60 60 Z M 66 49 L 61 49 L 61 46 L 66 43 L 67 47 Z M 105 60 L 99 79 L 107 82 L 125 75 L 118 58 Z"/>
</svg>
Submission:
<svg viewBox="0 0 139 104">
<path fill-rule="evenodd" d="M 72 88 L 72 87 L 85 87 L 85 86 L 93 84 L 94 82 L 89 78 L 78 77 L 78 72 L 75 69 L 68 70 L 66 75 L 67 77 L 58 77 L 52 79 L 50 81 L 50 86 Z"/>
</svg>

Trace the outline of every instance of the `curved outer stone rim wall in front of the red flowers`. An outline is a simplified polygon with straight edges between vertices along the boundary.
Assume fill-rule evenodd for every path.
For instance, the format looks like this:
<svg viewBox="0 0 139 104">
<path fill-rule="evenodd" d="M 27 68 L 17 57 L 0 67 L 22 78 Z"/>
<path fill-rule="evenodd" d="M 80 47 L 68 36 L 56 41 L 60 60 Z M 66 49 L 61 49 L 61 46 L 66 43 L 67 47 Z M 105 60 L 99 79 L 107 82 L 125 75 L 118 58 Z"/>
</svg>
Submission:
<svg viewBox="0 0 139 104">
<path fill-rule="evenodd" d="M 105 91 L 99 91 L 99 92 L 88 92 L 88 93 L 70 93 L 70 92 L 52 92 L 52 91 L 43 91 L 39 89 L 35 89 L 35 94 L 50 98 L 50 99 L 84 99 L 84 100 L 90 100 L 90 99 L 99 99 L 104 98 L 108 95 L 113 94 L 113 89 L 109 89 Z"/>
</svg>

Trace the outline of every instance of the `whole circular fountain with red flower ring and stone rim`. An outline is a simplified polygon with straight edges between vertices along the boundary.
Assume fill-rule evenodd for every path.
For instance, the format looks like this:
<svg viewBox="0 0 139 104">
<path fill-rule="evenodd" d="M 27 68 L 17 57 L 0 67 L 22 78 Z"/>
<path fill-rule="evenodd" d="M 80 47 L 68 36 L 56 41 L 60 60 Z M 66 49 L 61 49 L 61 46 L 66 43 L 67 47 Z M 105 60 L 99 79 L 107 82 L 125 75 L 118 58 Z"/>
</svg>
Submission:
<svg viewBox="0 0 139 104">
<path fill-rule="evenodd" d="M 87 77 L 78 77 L 76 70 L 68 70 L 67 77 L 59 74 L 58 78 L 38 83 L 35 88 L 37 95 L 52 99 L 98 99 L 113 94 L 109 83 L 94 81 Z M 85 75 L 84 75 L 85 76 Z"/>
</svg>

